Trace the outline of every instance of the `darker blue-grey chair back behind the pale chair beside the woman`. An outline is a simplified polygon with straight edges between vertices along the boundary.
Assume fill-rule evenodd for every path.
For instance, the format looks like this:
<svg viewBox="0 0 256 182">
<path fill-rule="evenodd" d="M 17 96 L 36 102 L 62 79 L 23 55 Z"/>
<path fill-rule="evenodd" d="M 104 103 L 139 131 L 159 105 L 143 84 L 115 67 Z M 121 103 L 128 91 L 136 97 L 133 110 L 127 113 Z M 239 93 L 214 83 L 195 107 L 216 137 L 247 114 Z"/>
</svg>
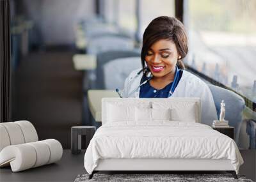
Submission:
<svg viewBox="0 0 256 182">
<path fill-rule="evenodd" d="M 104 70 L 103 67 L 109 61 L 124 57 L 139 57 L 140 52 L 138 50 L 111 50 L 108 52 L 100 52 L 97 54 L 97 70 L 96 70 L 96 87 L 97 89 L 105 89 L 104 84 Z M 116 71 L 116 70 L 115 70 Z M 118 71 L 117 71 L 118 72 Z"/>
</svg>

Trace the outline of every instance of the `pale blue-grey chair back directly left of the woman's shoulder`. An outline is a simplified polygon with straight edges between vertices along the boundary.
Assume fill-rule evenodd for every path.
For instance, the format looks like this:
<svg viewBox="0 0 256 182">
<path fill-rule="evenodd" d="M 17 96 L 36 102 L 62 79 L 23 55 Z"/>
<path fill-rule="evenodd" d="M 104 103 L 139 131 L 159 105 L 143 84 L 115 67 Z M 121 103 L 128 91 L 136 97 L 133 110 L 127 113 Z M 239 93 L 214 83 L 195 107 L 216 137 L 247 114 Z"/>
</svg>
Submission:
<svg viewBox="0 0 256 182">
<path fill-rule="evenodd" d="M 125 57 L 104 64 L 103 74 L 105 88 L 122 89 L 129 73 L 138 68 L 141 68 L 140 57 Z"/>
</svg>

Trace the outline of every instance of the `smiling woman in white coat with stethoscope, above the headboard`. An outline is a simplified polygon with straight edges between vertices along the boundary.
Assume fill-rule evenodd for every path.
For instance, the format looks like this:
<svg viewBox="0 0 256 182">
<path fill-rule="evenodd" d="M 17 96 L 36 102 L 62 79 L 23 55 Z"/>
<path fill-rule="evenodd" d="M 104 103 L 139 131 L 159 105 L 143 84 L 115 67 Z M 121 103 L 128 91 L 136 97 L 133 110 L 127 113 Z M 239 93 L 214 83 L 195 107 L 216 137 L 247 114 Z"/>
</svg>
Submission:
<svg viewBox="0 0 256 182">
<path fill-rule="evenodd" d="M 173 17 L 157 17 L 143 34 L 142 70 L 125 80 L 125 98 L 197 97 L 202 105 L 202 123 L 217 119 L 214 100 L 207 84 L 187 72 L 182 59 L 188 53 L 183 24 Z"/>
</svg>

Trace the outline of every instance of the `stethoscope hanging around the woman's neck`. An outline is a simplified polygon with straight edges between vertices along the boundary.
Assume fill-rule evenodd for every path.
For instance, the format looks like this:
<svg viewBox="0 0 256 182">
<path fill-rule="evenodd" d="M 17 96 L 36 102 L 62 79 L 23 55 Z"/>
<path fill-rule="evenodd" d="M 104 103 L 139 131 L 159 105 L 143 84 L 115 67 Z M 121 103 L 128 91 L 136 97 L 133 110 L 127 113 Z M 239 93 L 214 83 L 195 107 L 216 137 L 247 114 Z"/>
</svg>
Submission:
<svg viewBox="0 0 256 182">
<path fill-rule="evenodd" d="M 134 80 L 136 79 L 140 73 L 143 72 L 143 69 L 140 70 L 140 72 L 138 72 L 134 77 L 131 78 L 131 80 Z M 180 70 L 178 68 L 178 66 L 175 66 L 175 76 L 174 76 L 174 80 L 173 80 L 173 83 L 172 83 L 172 87 L 170 88 L 170 91 L 169 91 L 169 94 L 168 94 L 168 97 L 172 96 L 173 95 L 173 92 L 175 90 L 175 87 L 177 86 L 178 84 L 178 80 L 179 80 L 179 75 L 180 75 Z M 134 89 L 131 93 L 129 93 L 129 95 L 127 95 L 127 98 L 129 98 L 129 96 L 131 96 L 132 94 L 134 94 L 136 91 L 138 91 L 138 89 L 143 86 L 144 84 L 146 84 L 150 79 L 152 79 L 153 75 L 151 72 L 148 72 L 147 75 L 146 75 L 147 79 L 142 82 L 140 84 L 140 86 L 138 86 L 136 89 Z M 120 98 L 123 98 L 123 93 L 124 93 L 124 90 L 125 90 L 125 87 L 124 89 L 122 89 L 122 91 L 120 91 L 119 89 L 116 89 L 116 92 L 118 93 L 118 95 L 120 96 Z"/>
</svg>

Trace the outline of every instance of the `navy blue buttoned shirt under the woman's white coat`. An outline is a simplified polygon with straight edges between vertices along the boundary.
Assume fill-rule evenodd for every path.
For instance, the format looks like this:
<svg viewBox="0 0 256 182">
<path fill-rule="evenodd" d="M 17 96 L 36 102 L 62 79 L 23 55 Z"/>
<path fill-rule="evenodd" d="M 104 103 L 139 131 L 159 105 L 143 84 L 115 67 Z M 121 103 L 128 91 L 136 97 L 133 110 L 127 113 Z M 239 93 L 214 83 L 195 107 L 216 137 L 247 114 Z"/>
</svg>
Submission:
<svg viewBox="0 0 256 182">
<path fill-rule="evenodd" d="M 177 85 L 179 84 L 179 80 L 182 76 L 182 70 L 180 70 L 179 78 L 177 81 Z M 145 77 L 142 77 L 141 82 L 145 80 Z M 146 84 L 140 87 L 140 98 L 167 98 L 169 95 L 169 91 L 172 87 L 173 82 L 165 86 L 163 89 L 155 89 L 150 86 L 149 81 Z M 177 86 L 176 85 L 176 86 Z"/>
</svg>

